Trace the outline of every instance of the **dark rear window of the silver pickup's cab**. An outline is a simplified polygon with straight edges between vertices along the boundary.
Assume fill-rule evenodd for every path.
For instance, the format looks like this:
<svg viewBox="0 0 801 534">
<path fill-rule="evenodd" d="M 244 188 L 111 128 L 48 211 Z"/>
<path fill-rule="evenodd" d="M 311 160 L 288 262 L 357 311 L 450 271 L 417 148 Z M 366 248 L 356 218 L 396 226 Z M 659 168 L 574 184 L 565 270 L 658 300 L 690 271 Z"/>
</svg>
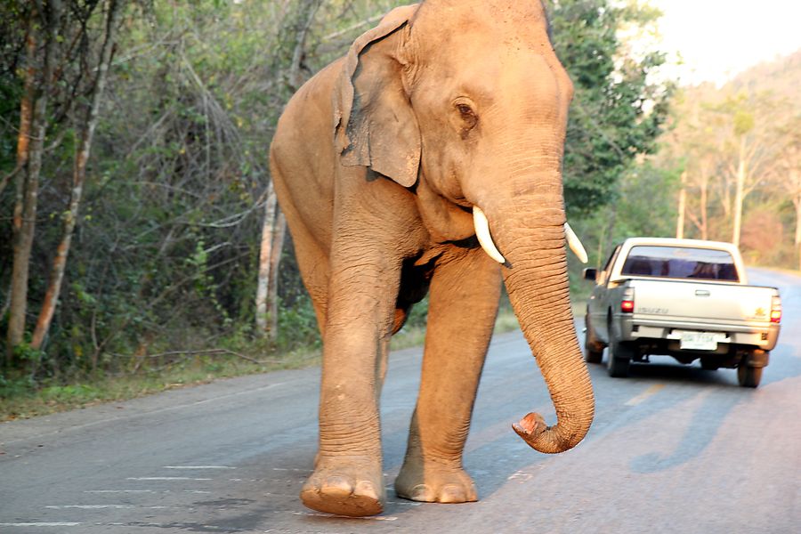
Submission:
<svg viewBox="0 0 801 534">
<path fill-rule="evenodd" d="M 740 281 L 734 258 L 724 250 L 691 247 L 631 247 L 623 274 L 675 279 Z"/>
</svg>

